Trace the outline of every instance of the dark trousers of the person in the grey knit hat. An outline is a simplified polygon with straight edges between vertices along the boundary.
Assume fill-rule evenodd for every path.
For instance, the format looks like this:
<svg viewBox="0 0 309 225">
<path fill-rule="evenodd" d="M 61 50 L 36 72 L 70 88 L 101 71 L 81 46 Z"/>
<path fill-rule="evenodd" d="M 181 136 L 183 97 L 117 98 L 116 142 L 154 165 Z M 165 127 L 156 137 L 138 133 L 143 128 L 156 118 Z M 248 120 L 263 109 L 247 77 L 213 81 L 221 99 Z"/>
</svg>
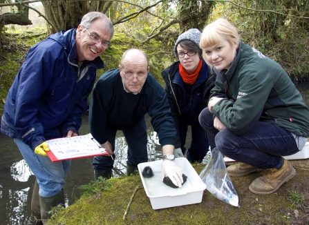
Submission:
<svg viewBox="0 0 309 225">
<path fill-rule="evenodd" d="M 187 150 L 187 159 L 191 162 L 202 162 L 209 150 L 209 141 L 198 120 L 187 115 L 179 117 L 180 148 L 184 154 L 188 126 L 191 126 L 191 144 Z"/>
</svg>

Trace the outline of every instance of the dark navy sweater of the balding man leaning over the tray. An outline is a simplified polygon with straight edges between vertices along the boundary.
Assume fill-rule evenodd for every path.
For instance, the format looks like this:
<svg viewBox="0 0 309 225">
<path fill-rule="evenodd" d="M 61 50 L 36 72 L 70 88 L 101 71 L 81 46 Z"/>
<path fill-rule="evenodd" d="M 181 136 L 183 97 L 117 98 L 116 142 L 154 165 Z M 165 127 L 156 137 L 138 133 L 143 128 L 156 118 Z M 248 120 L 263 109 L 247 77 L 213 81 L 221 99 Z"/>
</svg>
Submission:
<svg viewBox="0 0 309 225">
<path fill-rule="evenodd" d="M 134 95 L 126 92 L 119 69 L 105 72 L 95 84 L 89 108 L 91 135 L 100 144 L 107 141 L 107 126 L 123 130 L 140 121 L 148 113 L 159 142 L 175 145 L 176 130 L 165 90 L 148 73 L 142 90 Z"/>
</svg>

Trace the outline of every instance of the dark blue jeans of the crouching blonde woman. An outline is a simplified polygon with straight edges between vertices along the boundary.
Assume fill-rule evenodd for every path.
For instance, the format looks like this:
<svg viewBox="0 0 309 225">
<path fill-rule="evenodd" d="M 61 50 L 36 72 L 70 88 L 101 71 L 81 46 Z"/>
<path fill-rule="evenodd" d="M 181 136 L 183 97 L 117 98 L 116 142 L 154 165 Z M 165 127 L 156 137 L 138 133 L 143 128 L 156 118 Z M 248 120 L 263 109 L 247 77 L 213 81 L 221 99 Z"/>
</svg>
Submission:
<svg viewBox="0 0 309 225">
<path fill-rule="evenodd" d="M 235 135 L 227 128 L 220 132 L 214 128 L 214 115 L 208 108 L 199 116 L 200 125 L 205 128 L 211 148 L 238 162 L 257 168 L 281 168 L 282 156 L 297 153 L 292 133 L 270 123 L 258 122 L 247 135 Z"/>
</svg>

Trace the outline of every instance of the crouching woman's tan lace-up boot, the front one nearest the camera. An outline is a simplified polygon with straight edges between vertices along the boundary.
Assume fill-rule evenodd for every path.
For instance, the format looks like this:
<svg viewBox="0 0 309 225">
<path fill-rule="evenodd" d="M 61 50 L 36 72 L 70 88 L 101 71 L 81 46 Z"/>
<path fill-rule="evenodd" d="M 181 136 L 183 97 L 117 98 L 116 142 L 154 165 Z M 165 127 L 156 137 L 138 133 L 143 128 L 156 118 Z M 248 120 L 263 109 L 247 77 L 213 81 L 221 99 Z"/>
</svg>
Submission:
<svg viewBox="0 0 309 225">
<path fill-rule="evenodd" d="M 284 182 L 292 179 L 296 174 L 293 166 L 286 159 L 280 169 L 270 168 L 261 173 L 261 177 L 254 179 L 249 190 L 256 195 L 268 195 L 280 188 Z"/>
</svg>

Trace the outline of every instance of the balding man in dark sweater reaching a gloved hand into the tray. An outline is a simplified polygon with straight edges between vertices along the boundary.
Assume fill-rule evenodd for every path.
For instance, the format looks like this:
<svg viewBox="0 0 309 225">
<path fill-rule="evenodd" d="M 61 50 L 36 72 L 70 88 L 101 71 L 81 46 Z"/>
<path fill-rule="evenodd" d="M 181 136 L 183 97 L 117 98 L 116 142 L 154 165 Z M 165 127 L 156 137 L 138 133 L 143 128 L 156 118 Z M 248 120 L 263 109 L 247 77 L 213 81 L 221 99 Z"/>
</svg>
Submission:
<svg viewBox="0 0 309 225">
<path fill-rule="evenodd" d="M 163 150 L 162 179 L 169 177 L 176 186 L 181 186 L 182 171 L 174 162 L 176 129 L 167 95 L 149 73 L 146 54 L 138 49 L 124 52 L 119 68 L 105 72 L 93 89 L 90 130 L 109 153 L 94 157 L 95 180 L 112 175 L 117 130 L 122 130 L 128 143 L 127 175 L 134 173 L 138 164 L 148 161 L 146 113 Z"/>
</svg>

